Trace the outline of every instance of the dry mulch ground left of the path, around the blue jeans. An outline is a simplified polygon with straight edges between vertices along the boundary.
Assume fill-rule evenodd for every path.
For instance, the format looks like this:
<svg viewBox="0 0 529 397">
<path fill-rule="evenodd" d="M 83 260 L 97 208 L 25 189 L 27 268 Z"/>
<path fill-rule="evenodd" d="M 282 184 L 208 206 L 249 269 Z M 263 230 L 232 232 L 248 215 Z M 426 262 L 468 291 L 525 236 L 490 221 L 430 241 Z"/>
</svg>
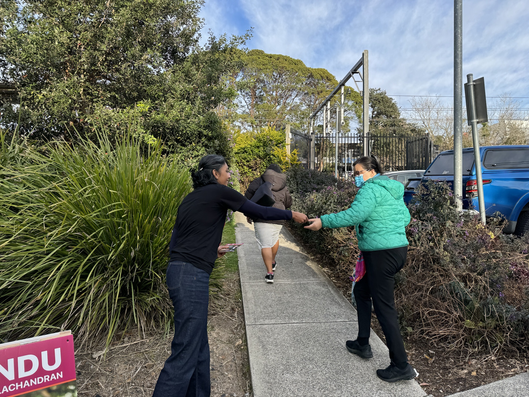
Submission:
<svg viewBox="0 0 529 397">
<path fill-rule="evenodd" d="M 251 397 L 238 273 L 226 275 L 222 294 L 210 302 L 208 336 L 211 395 Z M 127 333 L 121 341 L 110 346 L 106 355 L 103 354 L 104 346 L 77 351 L 78 395 L 151 396 L 163 363 L 169 357 L 171 339 L 172 335 Z"/>
</svg>

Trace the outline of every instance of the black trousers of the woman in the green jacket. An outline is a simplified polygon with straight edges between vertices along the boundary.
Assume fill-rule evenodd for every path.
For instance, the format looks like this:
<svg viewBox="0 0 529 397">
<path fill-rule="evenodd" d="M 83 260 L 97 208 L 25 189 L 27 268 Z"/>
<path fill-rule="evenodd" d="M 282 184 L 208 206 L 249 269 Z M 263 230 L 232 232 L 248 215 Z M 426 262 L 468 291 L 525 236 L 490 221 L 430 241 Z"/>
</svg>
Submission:
<svg viewBox="0 0 529 397">
<path fill-rule="evenodd" d="M 371 330 L 371 302 L 382 327 L 389 349 L 389 358 L 395 364 L 408 361 L 395 309 L 395 274 L 403 268 L 408 247 L 362 251 L 366 274 L 354 284 L 357 301 L 358 336 L 369 338 Z"/>
</svg>

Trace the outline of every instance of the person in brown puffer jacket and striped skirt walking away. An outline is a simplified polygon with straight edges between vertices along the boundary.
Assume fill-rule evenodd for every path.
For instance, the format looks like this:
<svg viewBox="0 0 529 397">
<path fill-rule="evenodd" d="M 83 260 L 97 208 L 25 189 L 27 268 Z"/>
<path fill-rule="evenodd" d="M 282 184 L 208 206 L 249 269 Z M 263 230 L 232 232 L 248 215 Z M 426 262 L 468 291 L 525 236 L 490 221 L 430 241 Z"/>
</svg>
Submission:
<svg viewBox="0 0 529 397">
<path fill-rule="evenodd" d="M 292 205 L 292 197 L 290 197 L 287 187 L 287 176 L 281 172 L 281 168 L 277 164 L 270 164 L 259 178 L 253 179 L 244 196 L 250 200 L 259 186 L 265 182 L 272 184 L 272 194 L 276 201 L 273 204 L 274 207 L 286 210 Z M 253 221 L 256 240 L 267 268 L 265 280 L 267 283 L 273 283 L 273 270 L 276 269 L 276 254 L 279 248 L 279 232 L 285 221 L 263 221 L 249 217 L 247 220 L 250 224 Z"/>
</svg>

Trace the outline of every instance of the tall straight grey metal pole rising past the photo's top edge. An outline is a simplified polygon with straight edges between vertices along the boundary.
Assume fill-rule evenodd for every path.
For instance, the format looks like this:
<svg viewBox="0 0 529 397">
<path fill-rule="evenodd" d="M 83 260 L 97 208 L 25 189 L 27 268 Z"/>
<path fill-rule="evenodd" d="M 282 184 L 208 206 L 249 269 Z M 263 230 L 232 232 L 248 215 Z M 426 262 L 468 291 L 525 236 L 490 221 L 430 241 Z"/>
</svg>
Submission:
<svg viewBox="0 0 529 397">
<path fill-rule="evenodd" d="M 463 0 L 454 0 L 454 196 L 463 210 Z"/>
</svg>

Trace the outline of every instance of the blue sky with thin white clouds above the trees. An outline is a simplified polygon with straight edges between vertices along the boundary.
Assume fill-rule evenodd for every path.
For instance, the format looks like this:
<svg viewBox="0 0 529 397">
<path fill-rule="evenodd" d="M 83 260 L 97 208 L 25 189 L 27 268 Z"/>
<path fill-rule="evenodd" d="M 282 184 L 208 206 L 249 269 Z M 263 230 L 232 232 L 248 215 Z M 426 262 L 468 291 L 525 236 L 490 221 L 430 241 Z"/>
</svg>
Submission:
<svg viewBox="0 0 529 397">
<path fill-rule="evenodd" d="M 338 80 L 367 49 L 371 87 L 453 94 L 451 0 L 206 0 L 200 16 L 203 34 L 252 26 L 250 49 L 301 59 Z M 528 68 L 529 1 L 463 0 L 464 81 L 473 73 L 485 76 L 487 96 L 529 97 Z"/>
</svg>

